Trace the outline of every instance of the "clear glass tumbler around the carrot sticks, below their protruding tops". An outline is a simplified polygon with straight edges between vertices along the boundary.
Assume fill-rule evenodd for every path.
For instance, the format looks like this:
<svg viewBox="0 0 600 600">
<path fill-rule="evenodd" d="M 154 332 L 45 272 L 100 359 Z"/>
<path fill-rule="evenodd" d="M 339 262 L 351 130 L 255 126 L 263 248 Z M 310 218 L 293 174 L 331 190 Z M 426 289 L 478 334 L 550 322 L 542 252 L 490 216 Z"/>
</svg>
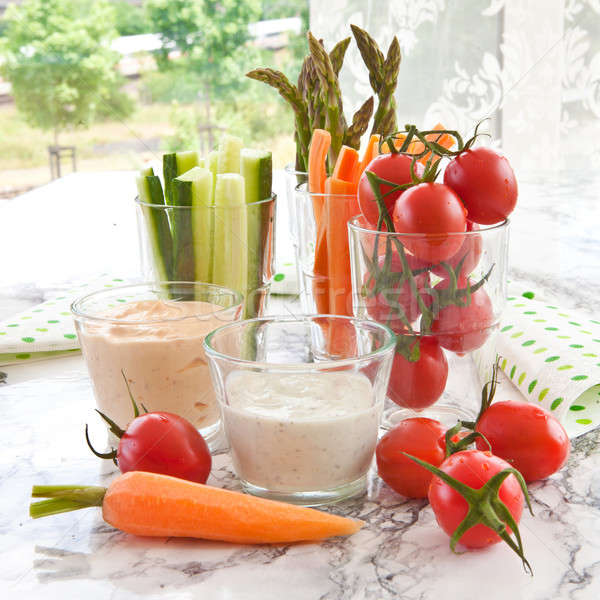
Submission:
<svg viewBox="0 0 600 600">
<path fill-rule="evenodd" d="M 360 212 L 356 194 L 294 191 L 297 261 L 302 309 L 310 314 L 352 315 L 347 222 Z"/>
</svg>

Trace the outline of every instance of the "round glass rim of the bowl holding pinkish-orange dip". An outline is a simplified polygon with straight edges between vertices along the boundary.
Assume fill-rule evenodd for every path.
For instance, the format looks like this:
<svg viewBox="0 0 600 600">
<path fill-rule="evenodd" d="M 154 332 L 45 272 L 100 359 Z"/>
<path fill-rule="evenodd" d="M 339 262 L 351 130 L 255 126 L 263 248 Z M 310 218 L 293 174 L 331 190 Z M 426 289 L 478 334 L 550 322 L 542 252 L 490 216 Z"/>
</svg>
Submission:
<svg viewBox="0 0 600 600">
<path fill-rule="evenodd" d="M 82 304 L 84 302 L 89 301 L 93 298 L 101 297 L 102 295 L 108 295 L 111 292 L 115 291 L 126 291 L 135 288 L 156 288 L 160 289 L 160 286 L 172 286 L 172 285 L 185 285 L 185 286 L 194 286 L 194 288 L 200 287 L 202 289 L 210 289 L 216 292 L 225 292 L 226 294 L 233 297 L 233 304 L 231 306 L 220 306 L 218 310 L 211 311 L 208 313 L 201 313 L 196 315 L 185 315 L 183 317 L 171 317 L 171 318 L 162 318 L 162 319 L 141 319 L 141 320 L 130 320 L 125 321 L 123 319 L 115 319 L 111 317 L 102 317 L 98 315 L 92 315 L 85 312 L 82 308 Z M 177 302 L 176 300 L 174 302 Z M 80 298 L 76 298 L 71 302 L 71 306 L 69 307 L 71 313 L 74 317 L 79 319 L 85 319 L 88 321 L 96 321 L 99 323 L 111 323 L 114 325 L 154 325 L 156 323 L 178 323 L 186 320 L 197 320 L 200 317 L 212 317 L 218 315 L 224 311 L 228 311 L 231 309 L 236 309 L 244 303 L 244 297 L 240 292 L 236 292 L 230 288 L 226 288 L 222 285 L 216 285 L 214 283 L 206 283 L 204 281 L 143 281 L 138 283 L 131 283 L 127 285 L 117 285 L 111 288 L 105 288 L 101 290 L 96 290 L 94 292 L 90 292 L 89 294 L 85 294 Z M 124 304 L 125 306 L 125 304 Z"/>
</svg>

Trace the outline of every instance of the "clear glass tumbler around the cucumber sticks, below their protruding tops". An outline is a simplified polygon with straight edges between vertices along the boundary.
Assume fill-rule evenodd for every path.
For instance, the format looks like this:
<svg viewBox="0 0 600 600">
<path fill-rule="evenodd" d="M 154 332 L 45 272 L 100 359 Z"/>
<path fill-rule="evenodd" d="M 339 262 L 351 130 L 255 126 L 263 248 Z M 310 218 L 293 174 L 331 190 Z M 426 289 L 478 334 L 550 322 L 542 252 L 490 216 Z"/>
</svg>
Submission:
<svg viewBox="0 0 600 600">
<path fill-rule="evenodd" d="M 274 274 L 274 194 L 242 207 L 136 203 L 144 279 L 225 286 L 244 296 L 245 317 L 263 314 Z"/>
</svg>

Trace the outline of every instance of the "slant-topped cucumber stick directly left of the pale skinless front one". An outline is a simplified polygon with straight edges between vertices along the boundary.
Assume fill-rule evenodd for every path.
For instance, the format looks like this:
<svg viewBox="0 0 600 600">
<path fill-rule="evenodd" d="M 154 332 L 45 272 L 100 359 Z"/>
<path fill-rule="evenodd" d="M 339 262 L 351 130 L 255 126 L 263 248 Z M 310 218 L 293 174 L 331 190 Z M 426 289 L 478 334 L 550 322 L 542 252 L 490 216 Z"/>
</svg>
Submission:
<svg viewBox="0 0 600 600">
<path fill-rule="evenodd" d="M 184 212 L 191 224 L 189 243 L 179 249 L 185 252 L 177 256 L 176 264 L 182 272 L 192 275 L 192 280 L 210 282 L 213 268 L 213 176 L 208 169 L 194 167 L 173 180 L 173 192 L 180 206 L 189 206 Z"/>
</svg>

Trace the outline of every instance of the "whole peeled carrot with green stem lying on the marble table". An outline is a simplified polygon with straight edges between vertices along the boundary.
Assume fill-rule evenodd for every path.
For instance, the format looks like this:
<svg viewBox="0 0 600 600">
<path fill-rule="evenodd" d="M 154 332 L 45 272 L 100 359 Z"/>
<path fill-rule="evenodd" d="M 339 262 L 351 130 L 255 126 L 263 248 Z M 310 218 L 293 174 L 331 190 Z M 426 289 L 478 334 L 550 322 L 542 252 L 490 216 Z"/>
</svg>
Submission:
<svg viewBox="0 0 600 600">
<path fill-rule="evenodd" d="M 87 494 L 87 495 L 86 495 Z M 129 471 L 108 487 L 34 486 L 33 517 L 102 506 L 104 520 L 126 533 L 194 537 L 239 544 L 289 543 L 350 535 L 362 521 L 159 475 Z M 69 508 L 65 503 L 72 503 Z M 55 503 L 52 509 L 51 503 Z M 59 506 L 64 508 L 60 509 Z"/>
</svg>

